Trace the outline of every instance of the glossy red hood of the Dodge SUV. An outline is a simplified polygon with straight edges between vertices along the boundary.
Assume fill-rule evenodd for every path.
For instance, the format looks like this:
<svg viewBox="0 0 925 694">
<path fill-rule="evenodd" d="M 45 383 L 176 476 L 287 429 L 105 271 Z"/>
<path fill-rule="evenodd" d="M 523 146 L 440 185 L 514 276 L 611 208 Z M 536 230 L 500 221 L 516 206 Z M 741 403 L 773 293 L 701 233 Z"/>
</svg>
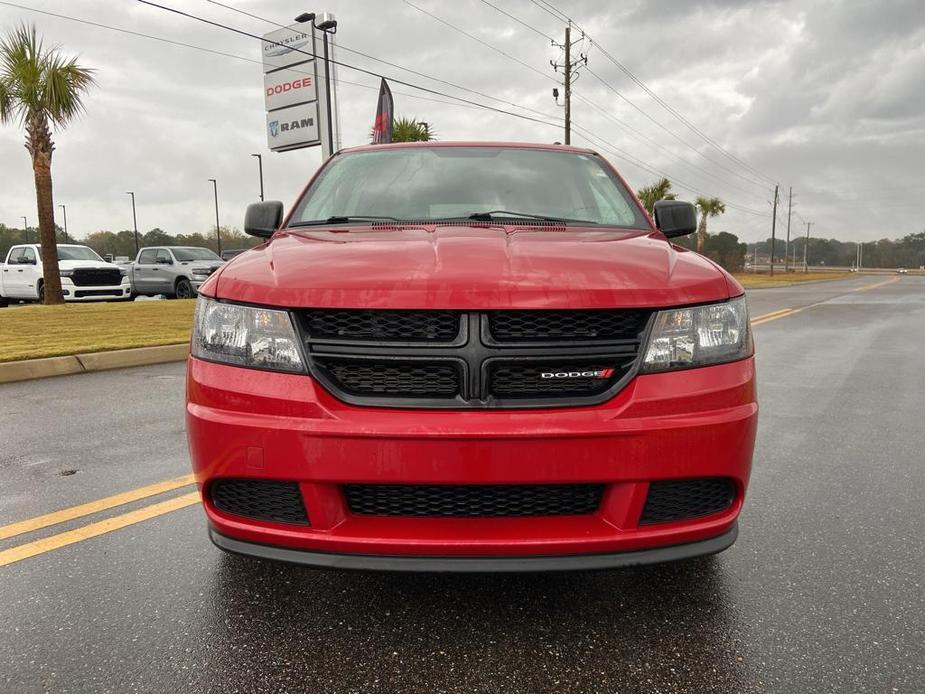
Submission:
<svg viewBox="0 0 925 694">
<path fill-rule="evenodd" d="M 277 234 L 203 293 L 287 307 L 658 307 L 722 300 L 736 285 L 657 232 L 502 226 L 338 228 Z"/>
</svg>

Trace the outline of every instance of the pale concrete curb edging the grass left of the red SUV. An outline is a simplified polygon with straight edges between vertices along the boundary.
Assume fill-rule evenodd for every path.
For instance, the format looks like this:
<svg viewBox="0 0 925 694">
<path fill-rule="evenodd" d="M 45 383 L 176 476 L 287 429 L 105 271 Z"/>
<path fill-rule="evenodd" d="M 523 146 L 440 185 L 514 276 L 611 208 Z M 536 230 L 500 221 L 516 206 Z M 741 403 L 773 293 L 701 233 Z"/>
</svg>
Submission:
<svg viewBox="0 0 925 694">
<path fill-rule="evenodd" d="M 92 352 L 66 357 L 4 362 L 0 363 L 0 383 L 29 381 L 34 378 L 48 378 L 49 376 L 91 373 L 108 369 L 124 369 L 130 366 L 164 364 L 172 361 L 183 361 L 186 359 L 187 354 L 189 354 L 189 345 L 184 342 L 179 345 L 116 349 L 111 352 Z"/>
</svg>

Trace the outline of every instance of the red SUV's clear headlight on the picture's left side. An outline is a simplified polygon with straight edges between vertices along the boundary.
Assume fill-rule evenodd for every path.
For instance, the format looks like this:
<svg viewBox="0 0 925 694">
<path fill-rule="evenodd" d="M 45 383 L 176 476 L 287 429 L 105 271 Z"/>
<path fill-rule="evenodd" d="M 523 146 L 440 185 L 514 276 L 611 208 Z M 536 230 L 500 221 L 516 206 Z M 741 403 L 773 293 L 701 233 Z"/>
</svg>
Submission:
<svg viewBox="0 0 925 694">
<path fill-rule="evenodd" d="M 196 300 L 191 352 L 236 366 L 305 370 L 286 311 L 223 304 L 202 296 Z"/>
</svg>

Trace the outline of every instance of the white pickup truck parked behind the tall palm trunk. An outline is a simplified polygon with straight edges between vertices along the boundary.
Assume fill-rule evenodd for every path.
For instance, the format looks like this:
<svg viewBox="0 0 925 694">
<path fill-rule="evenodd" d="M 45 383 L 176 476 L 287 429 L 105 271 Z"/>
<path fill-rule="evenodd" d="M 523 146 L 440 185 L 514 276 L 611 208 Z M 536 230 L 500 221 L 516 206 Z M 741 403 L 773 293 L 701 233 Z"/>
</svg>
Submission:
<svg viewBox="0 0 925 694">
<path fill-rule="evenodd" d="M 58 244 L 58 269 L 65 301 L 130 299 L 128 270 L 107 263 L 92 248 Z M 42 255 L 38 244 L 13 246 L 0 266 L 0 306 L 43 301 Z"/>
</svg>

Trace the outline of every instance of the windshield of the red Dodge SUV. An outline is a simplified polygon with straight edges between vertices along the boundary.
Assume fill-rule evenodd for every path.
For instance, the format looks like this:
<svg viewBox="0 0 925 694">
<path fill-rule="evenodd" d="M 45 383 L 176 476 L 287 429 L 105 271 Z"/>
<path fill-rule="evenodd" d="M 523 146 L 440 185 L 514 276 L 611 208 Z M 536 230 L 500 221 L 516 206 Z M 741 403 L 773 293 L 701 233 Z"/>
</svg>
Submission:
<svg viewBox="0 0 925 694">
<path fill-rule="evenodd" d="M 537 216 L 649 228 L 629 191 L 598 157 L 513 147 L 408 147 L 340 155 L 306 192 L 289 225 L 332 217 L 428 221 L 486 212 L 491 218 Z"/>
</svg>

